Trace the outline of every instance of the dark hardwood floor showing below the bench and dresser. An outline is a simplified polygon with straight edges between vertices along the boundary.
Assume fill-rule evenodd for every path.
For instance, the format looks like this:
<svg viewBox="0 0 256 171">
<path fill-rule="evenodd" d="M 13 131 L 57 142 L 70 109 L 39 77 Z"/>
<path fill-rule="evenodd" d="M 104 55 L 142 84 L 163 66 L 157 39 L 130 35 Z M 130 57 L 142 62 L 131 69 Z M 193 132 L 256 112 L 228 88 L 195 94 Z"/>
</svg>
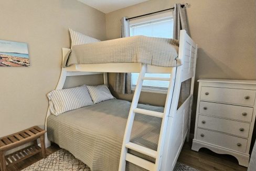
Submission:
<svg viewBox="0 0 256 171">
<path fill-rule="evenodd" d="M 47 156 L 51 153 L 58 151 L 60 147 L 57 144 L 52 144 L 49 148 L 46 149 Z M 8 168 L 8 171 L 17 171 L 26 168 L 27 166 L 36 163 L 42 159 L 40 154 L 36 154 L 30 158 L 25 159 L 24 161 L 15 164 L 12 167 Z M 230 155 L 220 155 L 214 152 L 211 152 L 209 149 L 201 148 L 199 152 L 191 150 L 191 142 L 186 143 L 183 146 L 182 152 L 179 155 L 178 162 L 186 164 L 188 166 L 194 167 L 198 170 L 241 170 L 246 171 L 247 168 L 238 165 L 237 159 Z M 167 170 L 166 170 L 167 171 Z"/>
</svg>

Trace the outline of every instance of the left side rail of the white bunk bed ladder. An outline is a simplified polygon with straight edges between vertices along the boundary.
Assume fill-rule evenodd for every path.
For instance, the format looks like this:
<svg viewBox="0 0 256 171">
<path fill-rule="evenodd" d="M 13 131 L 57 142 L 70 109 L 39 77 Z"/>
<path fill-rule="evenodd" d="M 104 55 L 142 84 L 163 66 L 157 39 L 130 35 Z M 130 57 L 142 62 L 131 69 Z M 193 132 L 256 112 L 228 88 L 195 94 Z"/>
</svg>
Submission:
<svg viewBox="0 0 256 171">
<path fill-rule="evenodd" d="M 126 164 L 125 157 L 126 157 L 126 154 L 127 154 L 127 148 L 125 147 L 125 145 L 130 142 L 130 137 L 131 137 L 131 132 L 132 132 L 132 125 L 133 125 L 134 116 L 135 116 L 135 113 L 134 113 L 133 110 L 135 108 L 137 108 L 138 99 L 140 98 L 142 84 L 143 84 L 143 77 L 145 77 L 145 73 L 146 73 L 146 65 L 143 64 L 142 67 L 141 67 L 140 76 L 138 77 L 138 81 L 137 81 L 137 85 L 136 85 L 136 88 L 135 88 L 135 91 L 134 91 L 129 116 L 128 116 L 126 127 L 125 127 L 123 144 L 122 144 L 122 149 L 121 149 L 120 162 L 119 162 L 119 171 L 124 171 L 125 170 L 125 164 Z"/>
</svg>

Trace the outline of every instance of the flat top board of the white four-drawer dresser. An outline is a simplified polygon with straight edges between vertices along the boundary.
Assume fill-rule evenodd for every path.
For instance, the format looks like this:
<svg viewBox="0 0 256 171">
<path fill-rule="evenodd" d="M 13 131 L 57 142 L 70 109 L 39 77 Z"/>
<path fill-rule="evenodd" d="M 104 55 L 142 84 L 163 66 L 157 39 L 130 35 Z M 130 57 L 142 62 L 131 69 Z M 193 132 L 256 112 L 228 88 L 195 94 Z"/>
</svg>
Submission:
<svg viewBox="0 0 256 171">
<path fill-rule="evenodd" d="M 256 85 L 256 80 L 199 79 L 198 82 L 219 82 L 219 83 L 231 83 L 231 84 L 253 84 L 253 85 Z"/>
</svg>

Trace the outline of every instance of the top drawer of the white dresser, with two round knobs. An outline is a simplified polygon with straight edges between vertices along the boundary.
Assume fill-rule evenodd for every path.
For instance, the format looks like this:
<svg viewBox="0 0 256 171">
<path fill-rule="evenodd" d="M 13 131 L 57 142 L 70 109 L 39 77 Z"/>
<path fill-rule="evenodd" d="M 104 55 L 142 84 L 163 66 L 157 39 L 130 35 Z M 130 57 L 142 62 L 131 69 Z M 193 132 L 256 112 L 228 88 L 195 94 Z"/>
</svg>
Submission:
<svg viewBox="0 0 256 171">
<path fill-rule="evenodd" d="M 254 105 L 255 90 L 201 87 L 200 99 L 223 103 Z"/>
</svg>

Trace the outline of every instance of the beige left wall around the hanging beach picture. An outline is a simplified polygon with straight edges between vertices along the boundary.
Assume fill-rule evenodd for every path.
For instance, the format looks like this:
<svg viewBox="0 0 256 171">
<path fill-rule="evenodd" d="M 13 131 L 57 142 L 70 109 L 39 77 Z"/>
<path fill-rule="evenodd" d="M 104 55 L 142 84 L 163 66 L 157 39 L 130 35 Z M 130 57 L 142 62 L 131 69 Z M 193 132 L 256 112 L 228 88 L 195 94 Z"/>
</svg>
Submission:
<svg viewBox="0 0 256 171">
<path fill-rule="evenodd" d="M 46 94 L 60 76 L 61 47 L 70 47 L 68 28 L 105 40 L 105 14 L 75 0 L 5 0 L 0 6 L 0 39 L 27 42 L 31 64 L 0 68 L 1 137 L 44 126 Z M 85 82 L 102 83 L 102 76 Z"/>
</svg>

